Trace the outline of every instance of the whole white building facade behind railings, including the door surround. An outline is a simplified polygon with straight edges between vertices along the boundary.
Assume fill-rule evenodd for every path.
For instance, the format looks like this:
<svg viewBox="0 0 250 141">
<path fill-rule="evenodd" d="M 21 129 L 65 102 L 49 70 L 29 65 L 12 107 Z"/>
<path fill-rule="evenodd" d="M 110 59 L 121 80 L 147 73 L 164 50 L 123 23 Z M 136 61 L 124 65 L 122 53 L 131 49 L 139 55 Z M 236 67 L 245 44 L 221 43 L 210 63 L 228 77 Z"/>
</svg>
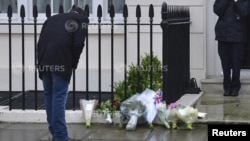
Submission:
<svg viewBox="0 0 250 141">
<path fill-rule="evenodd" d="M 0 0 L 4 1 L 4 0 Z M 73 2 L 74 0 L 72 0 Z M 93 0 L 94 2 L 95 0 Z M 105 0 L 96 0 L 93 6 L 102 4 L 104 6 L 104 22 L 108 22 L 108 13 L 105 13 Z M 115 0 L 114 0 L 115 1 Z M 161 22 L 161 5 L 166 1 L 169 5 L 185 5 L 190 7 L 191 25 L 190 25 L 190 68 L 191 77 L 195 77 L 198 82 L 202 79 L 207 79 L 221 75 L 220 60 L 217 53 L 217 43 L 214 40 L 214 25 L 216 16 L 212 11 L 214 0 L 125 0 L 128 5 L 128 22 L 136 22 L 136 6 L 141 5 L 142 17 L 141 23 L 148 23 L 148 9 L 149 5 L 154 5 L 154 23 Z M 103 3 L 102 3 L 103 2 Z M 1 3 L 0 3 L 1 4 Z M 26 9 L 26 22 L 32 22 L 32 0 L 18 0 L 17 8 L 20 9 L 21 5 L 25 5 Z M 96 22 L 95 9 L 93 7 L 93 15 L 90 18 L 91 22 Z M 1 5 L 0 5 L 1 8 Z M 3 8 L 2 8 L 3 9 Z M 8 18 L 6 13 L 0 13 L 0 22 L 7 23 Z M 13 15 L 13 22 L 20 22 L 19 11 Z M 38 22 L 42 23 L 45 20 L 45 14 L 39 14 L 41 18 Z M 121 18 L 117 14 L 116 18 Z M 106 20 L 106 21 L 105 21 Z M 38 32 L 41 30 L 41 25 L 38 26 Z M 9 89 L 9 36 L 8 25 L 0 24 L 0 91 L 8 91 Z M 22 40 L 21 40 L 21 26 L 12 26 L 12 86 L 14 91 L 22 89 Z M 90 80 L 89 90 L 96 90 L 98 88 L 98 30 L 97 26 L 89 27 L 89 67 L 90 67 Z M 115 81 L 123 79 L 123 27 L 115 26 Z M 25 25 L 25 89 L 34 89 L 34 27 L 33 25 Z M 102 89 L 110 90 L 110 27 L 102 29 Z M 154 53 L 161 58 L 162 49 L 162 30 L 159 27 L 154 27 Z M 141 28 L 141 55 L 149 51 L 149 29 Z M 128 65 L 132 62 L 136 63 L 136 42 L 137 33 L 136 27 L 128 28 Z M 76 89 L 84 91 L 85 82 L 85 50 L 81 55 L 79 66 L 77 69 Z M 199 83 L 200 85 L 200 83 Z M 42 89 L 41 81 L 38 80 L 38 89 Z"/>
</svg>

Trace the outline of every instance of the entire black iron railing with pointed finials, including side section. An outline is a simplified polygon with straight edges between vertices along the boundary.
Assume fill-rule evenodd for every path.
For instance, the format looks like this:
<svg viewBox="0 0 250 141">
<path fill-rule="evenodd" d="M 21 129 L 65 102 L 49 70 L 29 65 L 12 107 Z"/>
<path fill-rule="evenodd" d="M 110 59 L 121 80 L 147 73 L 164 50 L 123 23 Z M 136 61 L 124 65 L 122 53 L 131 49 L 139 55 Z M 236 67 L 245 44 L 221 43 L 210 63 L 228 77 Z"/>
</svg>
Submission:
<svg viewBox="0 0 250 141">
<path fill-rule="evenodd" d="M 149 23 L 141 23 L 141 7 L 140 5 L 137 5 L 136 7 L 136 22 L 135 23 L 127 23 L 128 20 L 128 7 L 127 5 L 124 5 L 123 8 L 123 23 L 114 23 L 114 17 L 115 17 L 115 7 L 111 5 L 109 16 L 110 16 L 110 36 L 111 36 L 111 90 L 109 92 L 102 91 L 102 26 L 107 25 L 107 23 L 102 23 L 102 7 L 99 5 L 97 8 L 97 17 L 98 17 L 98 23 L 90 23 L 89 25 L 97 24 L 98 25 L 98 91 L 93 92 L 89 91 L 89 36 L 87 34 L 86 36 L 86 43 L 85 43 L 85 51 L 86 51 L 86 90 L 84 92 L 77 92 L 76 93 L 76 73 L 75 70 L 73 70 L 72 75 L 72 97 L 71 100 L 72 105 L 69 106 L 70 109 L 77 109 L 79 108 L 77 99 L 79 98 L 98 98 L 99 101 L 102 101 L 103 99 L 111 99 L 114 100 L 114 25 L 123 26 L 124 28 L 124 94 L 125 97 L 127 97 L 127 60 L 128 60 L 128 53 L 127 53 L 127 28 L 128 26 L 136 26 L 137 27 L 137 39 L 135 39 L 135 43 L 137 43 L 137 65 L 140 66 L 140 50 L 141 50 L 141 26 L 147 26 L 150 29 L 149 34 L 149 44 L 150 44 L 150 64 L 152 65 L 153 60 L 153 35 L 154 35 L 154 27 L 161 26 L 162 27 L 162 68 L 167 68 L 163 71 L 163 95 L 164 99 L 167 101 L 167 103 L 171 103 L 176 101 L 178 98 L 180 98 L 187 88 L 189 77 L 190 77 L 190 67 L 189 67 L 189 25 L 190 25 L 190 16 L 189 16 L 189 9 L 184 6 L 168 6 L 166 3 L 163 3 L 162 5 L 162 12 L 157 13 L 162 15 L 162 22 L 161 23 L 154 23 L 154 6 L 151 4 L 149 6 Z M 42 91 L 38 91 L 37 88 L 37 69 L 35 69 L 34 78 L 35 78 L 35 87 L 34 90 L 25 90 L 25 25 L 34 25 L 34 65 L 37 65 L 37 59 L 36 59 L 36 48 L 37 48 L 37 17 L 38 17 L 38 10 L 37 6 L 34 5 L 33 7 L 33 21 L 34 23 L 25 23 L 25 7 L 21 6 L 20 9 L 20 17 L 21 17 L 21 23 L 12 23 L 12 8 L 11 6 L 8 7 L 8 27 L 9 27 L 9 60 L 5 60 L 9 62 L 9 91 L 8 91 L 8 99 L 5 99 L 4 102 L 0 101 L 0 105 L 9 105 L 9 110 L 18 108 L 16 105 L 13 104 L 13 101 L 18 100 L 17 97 L 19 95 L 21 96 L 21 101 L 19 99 L 19 105 L 21 105 L 21 109 L 25 110 L 27 108 L 31 109 L 41 109 L 43 106 L 41 106 L 41 103 L 43 103 L 41 100 Z M 89 16 L 89 7 L 85 7 L 85 11 L 87 13 L 87 16 Z M 64 13 L 63 7 L 60 6 L 59 13 Z M 50 5 L 47 5 L 46 7 L 46 17 L 51 17 L 51 9 Z M 20 93 L 13 92 L 12 90 L 12 25 L 20 25 L 22 29 L 22 91 Z M 87 33 L 88 33 L 87 29 Z M 152 88 L 153 84 L 153 75 L 152 72 L 153 67 L 150 67 L 150 88 Z M 138 88 L 137 91 L 142 91 L 140 87 L 140 71 L 137 71 L 137 83 Z M 3 93 L 3 92 L 2 92 Z M 27 93 L 34 93 L 34 106 L 30 106 L 29 103 L 26 103 L 28 95 Z M 98 94 L 96 97 L 96 93 Z M 81 96 L 79 97 L 80 94 Z M 29 99 L 29 98 L 28 98 Z M 21 103 L 21 104 L 20 104 Z M 39 105 L 40 104 L 40 105 Z M 29 106 L 27 106 L 29 105 Z"/>
</svg>

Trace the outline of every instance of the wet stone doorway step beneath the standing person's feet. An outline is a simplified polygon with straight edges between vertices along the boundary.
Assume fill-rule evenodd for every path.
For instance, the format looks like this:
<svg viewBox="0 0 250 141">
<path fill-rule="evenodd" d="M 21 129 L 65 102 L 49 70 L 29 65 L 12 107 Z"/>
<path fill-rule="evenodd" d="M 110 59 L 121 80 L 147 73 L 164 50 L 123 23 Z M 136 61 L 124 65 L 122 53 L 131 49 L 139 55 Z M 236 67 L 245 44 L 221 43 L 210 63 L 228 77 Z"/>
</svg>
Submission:
<svg viewBox="0 0 250 141">
<path fill-rule="evenodd" d="M 240 93 L 237 97 L 221 93 L 203 94 L 195 107 L 207 117 L 200 123 L 250 124 L 250 94 Z"/>
</svg>

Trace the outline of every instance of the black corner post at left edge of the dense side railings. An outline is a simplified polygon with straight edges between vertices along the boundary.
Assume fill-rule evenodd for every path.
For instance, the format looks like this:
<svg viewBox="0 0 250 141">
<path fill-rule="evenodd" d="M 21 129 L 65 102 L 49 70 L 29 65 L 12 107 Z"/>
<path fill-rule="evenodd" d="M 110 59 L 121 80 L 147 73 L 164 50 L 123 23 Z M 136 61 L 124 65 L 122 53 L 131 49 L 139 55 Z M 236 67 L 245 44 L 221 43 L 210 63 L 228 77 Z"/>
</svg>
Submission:
<svg viewBox="0 0 250 141">
<path fill-rule="evenodd" d="M 162 4 L 162 9 L 161 9 L 161 14 L 162 14 L 162 22 L 161 22 L 161 28 L 162 28 L 162 92 L 163 92 L 163 100 L 166 101 L 168 104 L 167 100 L 167 62 L 168 58 L 166 57 L 167 52 L 168 52 L 168 47 L 167 47 L 167 42 L 168 42 L 168 37 L 167 37 L 167 30 L 168 30 L 168 21 L 167 21 L 167 3 L 164 2 Z"/>
</svg>

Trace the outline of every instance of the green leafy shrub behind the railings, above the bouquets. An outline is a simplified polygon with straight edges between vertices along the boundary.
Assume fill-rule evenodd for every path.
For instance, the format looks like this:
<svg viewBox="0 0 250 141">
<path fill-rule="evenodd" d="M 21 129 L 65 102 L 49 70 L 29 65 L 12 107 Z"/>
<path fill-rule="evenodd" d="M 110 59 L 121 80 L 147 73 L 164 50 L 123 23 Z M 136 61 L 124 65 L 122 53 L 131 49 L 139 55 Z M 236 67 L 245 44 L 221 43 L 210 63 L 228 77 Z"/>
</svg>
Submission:
<svg viewBox="0 0 250 141">
<path fill-rule="evenodd" d="M 141 57 L 140 66 L 131 64 L 129 66 L 127 75 L 127 97 L 131 97 L 136 93 L 144 91 L 146 88 L 150 88 L 150 72 L 152 70 L 152 90 L 157 91 L 162 86 L 162 65 L 157 56 L 152 56 L 151 65 L 150 54 L 145 53 L 145 56 Z M 139 86 L 137 78 L 139 74 Z M 124 94 L 124 81 L 119 81 L 114 84 L 114 99 L 121 101 L 125 99 Z M 139 90 L 138 90 L 139 89 Z M 138 90 L 138 91 L 137 91 Z"/>
</svg>

